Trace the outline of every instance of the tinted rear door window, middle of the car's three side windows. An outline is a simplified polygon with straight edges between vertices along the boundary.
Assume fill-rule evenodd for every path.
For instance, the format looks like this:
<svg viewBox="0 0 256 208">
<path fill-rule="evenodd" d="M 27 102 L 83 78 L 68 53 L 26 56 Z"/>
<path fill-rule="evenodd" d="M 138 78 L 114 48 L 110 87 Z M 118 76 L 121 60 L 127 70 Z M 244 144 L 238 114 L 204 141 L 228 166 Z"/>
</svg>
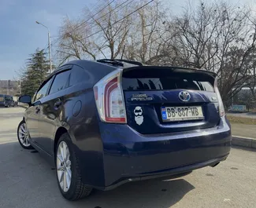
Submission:
<svg viewBox="0 0 256 208">
<path fill-rule="evenodd" d="M 60 91 L 61 89 L 65 89 L 67 87 L 68 79 L 70 75 L 70 70 L 69 71 L 63 71 L 59 73 L 58 75 L 55 76 L 54 82 L 50 88 L 50 93 L 56 93 Z"/>
</svg>

